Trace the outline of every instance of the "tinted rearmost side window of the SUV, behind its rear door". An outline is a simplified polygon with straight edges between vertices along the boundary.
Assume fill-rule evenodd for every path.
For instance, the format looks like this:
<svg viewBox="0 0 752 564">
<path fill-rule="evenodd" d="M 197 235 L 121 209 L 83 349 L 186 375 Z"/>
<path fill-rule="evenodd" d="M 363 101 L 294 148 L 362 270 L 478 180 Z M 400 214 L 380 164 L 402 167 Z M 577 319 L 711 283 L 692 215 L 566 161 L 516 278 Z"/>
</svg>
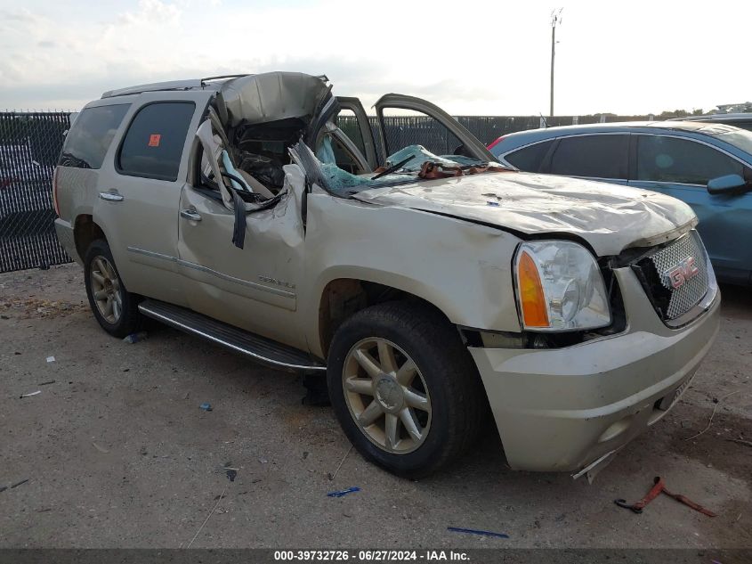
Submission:
<svg viewBox="0 0 752 564">
<path fill-rule="evenodd" d="M 78 114 L 65 138 L 58 165 L 101 168 L 109 144 L 117 133 L 130 104 L 86 108 Z"/>
</svg>

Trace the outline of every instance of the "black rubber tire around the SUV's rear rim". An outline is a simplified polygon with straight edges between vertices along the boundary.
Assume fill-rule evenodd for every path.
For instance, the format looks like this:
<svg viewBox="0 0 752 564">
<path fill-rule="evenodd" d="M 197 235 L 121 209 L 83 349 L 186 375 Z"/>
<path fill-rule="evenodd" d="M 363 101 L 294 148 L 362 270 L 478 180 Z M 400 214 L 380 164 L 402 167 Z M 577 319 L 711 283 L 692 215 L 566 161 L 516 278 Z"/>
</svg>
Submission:
<svg viewBox="0 0 752 564">
<path fill-rule="evenodd" d="M 97 257 L 105 258 L 109 265 L 112 266 L 119 285 L 122 306 L 119 307 L 119 315 L 113 320 L 108 320 L 102 315 L 100 307 L 97 306 L 97 300 L 93 296 L 92 272 L 93 270 L 99 272 L 96 264 L 101 264 L 95 263 Z M 89 248 L 86 249 L 84 257 L 84 281 L 86 285 L 86 297 L 89 298 L 89 307 L 92 308 L 94 317 L 104 331 L 107 331 L 114 337 L 122 338 L 139 330 L 142 324 L 142 315 L 138 311 L 140 297 L 125 289 L 125 284 L 120 280 L 120 274 L 117 273 L 117 266 L 115 265 L 115 260 L 112 257 L 112 252 L 109 250 L 107 241 L 98 239 L 93 241 L 89 245 Z"/>
</svg>

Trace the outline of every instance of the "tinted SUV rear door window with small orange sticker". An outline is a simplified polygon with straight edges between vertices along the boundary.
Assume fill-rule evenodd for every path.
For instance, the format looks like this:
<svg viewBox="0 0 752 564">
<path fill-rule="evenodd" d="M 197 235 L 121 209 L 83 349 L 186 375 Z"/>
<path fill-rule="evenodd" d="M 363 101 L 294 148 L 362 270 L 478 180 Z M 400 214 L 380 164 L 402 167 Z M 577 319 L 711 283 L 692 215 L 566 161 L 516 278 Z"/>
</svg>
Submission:
<svg viewBox="0 0 752 564">
<path fill-rule="evenodd" d="M 193 102 L 157 102 L 138 111 L 125 133 L 117 171 L 128 176 L 175 180 Z"/>
</svg>

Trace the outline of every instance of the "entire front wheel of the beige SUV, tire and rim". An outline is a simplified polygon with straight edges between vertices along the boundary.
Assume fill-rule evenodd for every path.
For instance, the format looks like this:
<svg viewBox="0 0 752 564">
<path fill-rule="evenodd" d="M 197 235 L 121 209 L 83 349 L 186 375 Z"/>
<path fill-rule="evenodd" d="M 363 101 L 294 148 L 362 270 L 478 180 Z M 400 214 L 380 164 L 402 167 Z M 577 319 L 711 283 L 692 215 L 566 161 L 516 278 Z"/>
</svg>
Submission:
<svg viewBox="0 0 752 564">
<path fill-rule="evenodd" d="M 389 302 L 344 322 L 329 348 L 329 396 L 360 454 L 417 478 L 473 444 L 485 400 L 449 321 L 423 304 Z"/>
</svg>

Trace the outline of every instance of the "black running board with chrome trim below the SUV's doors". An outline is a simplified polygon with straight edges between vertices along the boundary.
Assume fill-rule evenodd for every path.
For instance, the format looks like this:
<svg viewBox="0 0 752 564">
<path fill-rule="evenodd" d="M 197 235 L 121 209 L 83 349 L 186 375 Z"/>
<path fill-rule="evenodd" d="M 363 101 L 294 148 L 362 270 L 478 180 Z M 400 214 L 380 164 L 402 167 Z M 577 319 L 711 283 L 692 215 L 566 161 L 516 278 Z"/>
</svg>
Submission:
<svg viewBox="0 0 752 564">
<path fill-rule="evenodd" d="M 139 311 L 174 329 L 198 335 L 273 368 L 290 372 L 327 370 L 326 366 L 312 360 L 303 351 L 197 314 L 185 307 L 147 299 L 139 304 Z"/>
</svg>

